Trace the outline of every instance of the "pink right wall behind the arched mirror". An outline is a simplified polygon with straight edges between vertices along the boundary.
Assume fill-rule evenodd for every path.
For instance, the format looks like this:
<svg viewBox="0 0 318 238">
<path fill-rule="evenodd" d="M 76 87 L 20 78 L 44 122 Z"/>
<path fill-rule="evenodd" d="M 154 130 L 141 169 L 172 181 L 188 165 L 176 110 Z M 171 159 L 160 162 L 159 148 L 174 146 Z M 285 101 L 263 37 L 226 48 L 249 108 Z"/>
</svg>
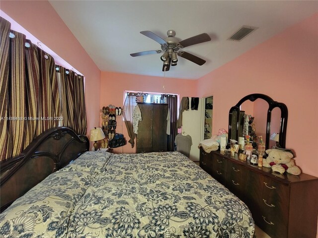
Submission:
<svg viewBox="0 0 318 238">
<path fill-rule="evenodd" d="M 263 93 L 285 103 L 286 147 L 296 151 L 296 164 L 303 172 L 314 176 L 318 176 L 317 26 L 315 14 L 198 79 L 198 96 L 213 95 L 214 133 L 227 128 L 230 108 L 245 95 Z"/>
</svg>

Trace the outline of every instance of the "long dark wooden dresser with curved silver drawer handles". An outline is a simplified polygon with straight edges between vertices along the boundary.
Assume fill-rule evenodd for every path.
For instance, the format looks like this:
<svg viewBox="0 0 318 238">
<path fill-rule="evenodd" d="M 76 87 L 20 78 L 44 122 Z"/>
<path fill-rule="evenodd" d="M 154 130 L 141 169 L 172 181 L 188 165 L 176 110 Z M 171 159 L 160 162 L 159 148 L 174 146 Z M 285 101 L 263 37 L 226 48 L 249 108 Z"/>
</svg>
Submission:
<svg viewBox="0 0 318 238">
<path fill-rule="evenodd" d="M 231 157 L 202 148 L 200 167 L 237 195 L 271 238 L 316 238 L 317 177 L 280 175 L 239 160 L 237 153 Z"/>
</svg>

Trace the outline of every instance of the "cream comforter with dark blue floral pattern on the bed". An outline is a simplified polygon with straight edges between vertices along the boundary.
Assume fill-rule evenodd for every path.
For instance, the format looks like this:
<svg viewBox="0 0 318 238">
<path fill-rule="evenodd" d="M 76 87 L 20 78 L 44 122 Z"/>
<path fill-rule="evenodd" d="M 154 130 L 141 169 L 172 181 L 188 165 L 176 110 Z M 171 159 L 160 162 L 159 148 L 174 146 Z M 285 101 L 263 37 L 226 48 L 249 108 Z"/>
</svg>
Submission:
<svg viewBox="0 0 318 238">
<path fill-rule="evenodd" d="M 0 214 L 8 238 L 252 238 L 247 206 L 179 152 L 86 152 Z"/>
</svg>

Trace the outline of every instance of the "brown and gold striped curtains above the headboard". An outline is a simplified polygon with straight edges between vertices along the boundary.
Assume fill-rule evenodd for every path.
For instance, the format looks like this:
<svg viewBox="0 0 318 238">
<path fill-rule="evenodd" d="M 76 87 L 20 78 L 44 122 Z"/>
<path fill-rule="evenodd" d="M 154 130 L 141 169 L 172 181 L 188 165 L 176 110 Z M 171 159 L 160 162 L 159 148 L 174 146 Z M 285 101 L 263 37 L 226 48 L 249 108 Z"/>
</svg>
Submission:
<svg viewBox="0 0 318 238">
<path fill-rule="evenodd" d="M 60 91 L 70 86 L 62 77 L 59 83 L 54 59 L 25 35 L 10 31 L 10 26 L 0 17 L 0 160 L 20 154 L 43 131 L 64 125 L 61 117 L 70 118 L 62 104 L 69 103 L 68 98 Z M 71 128 L 82 134 L 86 133 L 83 77 L 71 76 L 68 80 L 74 89 L 70 94 L 75 99 L 69 108 L 77 112 Z"/>
</svg>

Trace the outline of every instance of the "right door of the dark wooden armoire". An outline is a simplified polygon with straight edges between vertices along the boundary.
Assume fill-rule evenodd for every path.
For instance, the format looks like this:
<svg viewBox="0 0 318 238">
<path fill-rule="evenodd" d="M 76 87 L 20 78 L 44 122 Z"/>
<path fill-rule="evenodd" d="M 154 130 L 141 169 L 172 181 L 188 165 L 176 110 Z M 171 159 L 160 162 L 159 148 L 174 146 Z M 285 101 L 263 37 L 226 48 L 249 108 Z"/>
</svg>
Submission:
<svg viewBox="0 0 318 238">
<path fill-rule="evenodd" d="M 154 104 L 153 106 L 153 151 L 167 151 L 168 137 L 166 133 L 166 119 L 168 114 L 168 105 Z"/>
</svg>

